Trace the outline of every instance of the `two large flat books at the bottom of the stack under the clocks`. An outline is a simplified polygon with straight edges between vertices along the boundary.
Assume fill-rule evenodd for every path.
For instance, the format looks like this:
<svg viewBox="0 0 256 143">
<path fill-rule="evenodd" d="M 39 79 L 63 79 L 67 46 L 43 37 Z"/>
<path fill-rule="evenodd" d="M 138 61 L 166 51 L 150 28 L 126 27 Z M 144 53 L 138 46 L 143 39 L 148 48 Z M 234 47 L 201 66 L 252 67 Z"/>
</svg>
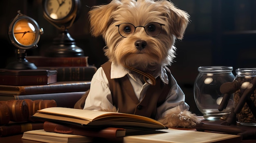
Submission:
<svg viewBox="0 0 256 143">
<path fill-rule="evenodd" d="M 0 85 L 0 101 L 31 99 L 55 100 L 59 107 L 73 108 L 90 88 L 90 81 L 57 81 L 53 84 L 9 86 Z"/>
</svg>

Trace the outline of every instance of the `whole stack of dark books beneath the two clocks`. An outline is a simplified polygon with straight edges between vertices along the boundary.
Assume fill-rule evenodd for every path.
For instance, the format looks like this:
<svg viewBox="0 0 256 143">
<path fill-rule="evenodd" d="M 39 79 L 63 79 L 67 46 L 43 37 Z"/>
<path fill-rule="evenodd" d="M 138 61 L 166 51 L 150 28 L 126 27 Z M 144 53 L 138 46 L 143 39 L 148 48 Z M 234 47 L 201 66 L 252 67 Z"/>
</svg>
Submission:
<svg viewBox="0 0 256 143">
<path fill-rule="evenodd" d="M 55 100 L 59 107 L 74 108 L 90 88 L 96 72 L 88 57 L 27 56 L 35 70 L 0 69 L 0 101 L 13 99 Z"/>
</svg>

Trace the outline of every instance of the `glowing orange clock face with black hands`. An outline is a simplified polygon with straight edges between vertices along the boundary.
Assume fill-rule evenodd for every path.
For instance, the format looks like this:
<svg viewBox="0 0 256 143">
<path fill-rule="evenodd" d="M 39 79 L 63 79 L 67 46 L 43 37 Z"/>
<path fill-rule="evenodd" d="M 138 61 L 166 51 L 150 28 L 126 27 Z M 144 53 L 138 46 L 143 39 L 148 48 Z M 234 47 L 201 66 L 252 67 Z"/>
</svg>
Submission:
<svg viewBox="0 0 256 143">
<path fill-rule="evenodd" d="M 20 19 L 13 25 L 13 35 L 21 45 L 33 45 L 36 41 L 36 27 L 29 20 Z"/>
</svg>

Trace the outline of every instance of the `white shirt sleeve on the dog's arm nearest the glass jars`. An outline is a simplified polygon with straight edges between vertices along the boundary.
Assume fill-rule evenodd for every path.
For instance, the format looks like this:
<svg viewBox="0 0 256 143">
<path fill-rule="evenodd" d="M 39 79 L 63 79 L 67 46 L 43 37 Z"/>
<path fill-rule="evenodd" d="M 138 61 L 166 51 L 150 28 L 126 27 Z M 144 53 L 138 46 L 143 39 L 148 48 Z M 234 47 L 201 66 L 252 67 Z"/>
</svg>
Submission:
<svg viewBox="0 0 256 143">
<path fill-rule="evenodd" d="M 189 105 L 185 102 L 184 92 L 171 75 L 171 90 L 166 97 L 166 101 L 157 108 L 156 119 L 164 117 L 164 115 L 168 114 L 171 110 L 175 110 L 177 106 L 179 106 L 180 109 L 189 110 Z"/>
</svg>

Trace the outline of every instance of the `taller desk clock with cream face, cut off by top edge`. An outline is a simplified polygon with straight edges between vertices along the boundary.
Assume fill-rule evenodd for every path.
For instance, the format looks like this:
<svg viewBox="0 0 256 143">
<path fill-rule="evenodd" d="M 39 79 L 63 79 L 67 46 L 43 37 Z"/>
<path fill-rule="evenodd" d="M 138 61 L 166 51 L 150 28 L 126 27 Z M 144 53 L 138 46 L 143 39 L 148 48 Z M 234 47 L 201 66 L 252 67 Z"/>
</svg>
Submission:
<svg viewBox="0 0 256 143">
<path fill-rule="evenodd" d="M 44 56 L 83 56 L 83 50 L 75 45 L 75 40 L 67 31 L 79 15 L 80 0 L 43 0 L 42 5 L 44 18 L 61 31 L 53 45 L 45 50 Z"/>
</svg>

